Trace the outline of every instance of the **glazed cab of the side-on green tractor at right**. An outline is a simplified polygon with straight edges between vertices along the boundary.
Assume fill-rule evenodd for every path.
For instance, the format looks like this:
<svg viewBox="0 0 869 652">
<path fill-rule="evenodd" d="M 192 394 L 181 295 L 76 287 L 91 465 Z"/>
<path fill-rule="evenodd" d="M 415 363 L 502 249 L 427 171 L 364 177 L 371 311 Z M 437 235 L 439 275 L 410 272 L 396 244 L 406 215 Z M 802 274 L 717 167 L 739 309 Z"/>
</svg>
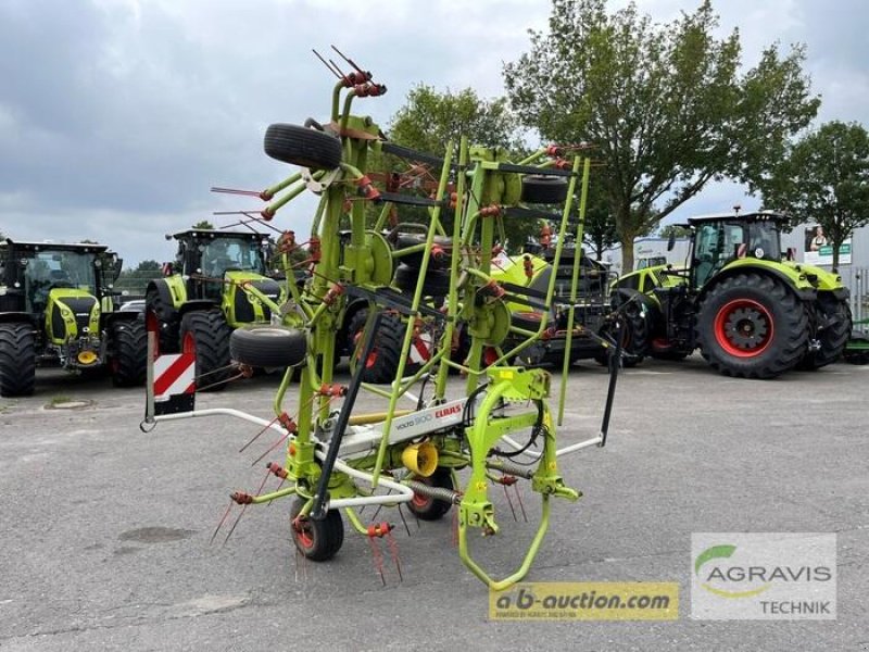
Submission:
<svg viewBox="0 0 869 652">
<path fill-rule="evenodd" d="M 781 261 L 781 225 L 778 213 L 710 215 L 689 220 L 694 231 L 690 285 L 704 287 L 738 259 Z"/>
</svg>

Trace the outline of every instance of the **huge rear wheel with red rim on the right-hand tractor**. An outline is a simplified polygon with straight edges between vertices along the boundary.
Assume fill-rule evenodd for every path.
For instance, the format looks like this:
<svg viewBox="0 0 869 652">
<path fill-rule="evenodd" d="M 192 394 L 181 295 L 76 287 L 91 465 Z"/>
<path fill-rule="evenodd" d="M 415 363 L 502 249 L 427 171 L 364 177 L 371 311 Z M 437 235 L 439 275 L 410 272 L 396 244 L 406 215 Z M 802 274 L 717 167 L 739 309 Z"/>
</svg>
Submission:
<svg viewBox="0 0 869 652">
<path fill-rule="evenodd" d="M 738 274 L 706 294 L 697 340 L 711 367 L 726 376 L 774 378 L 805 355 L 808 315 L 778 278 Z"/>
</svg>

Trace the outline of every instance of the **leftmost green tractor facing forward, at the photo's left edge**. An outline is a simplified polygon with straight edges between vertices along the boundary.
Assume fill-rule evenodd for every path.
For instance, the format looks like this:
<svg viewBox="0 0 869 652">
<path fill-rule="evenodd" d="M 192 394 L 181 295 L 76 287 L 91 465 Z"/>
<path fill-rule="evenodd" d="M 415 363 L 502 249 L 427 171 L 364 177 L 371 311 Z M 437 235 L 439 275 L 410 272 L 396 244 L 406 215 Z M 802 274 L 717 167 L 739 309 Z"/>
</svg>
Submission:
<svg viewBox="0 0 869 652">
<path fill-rule="evenodd" d="M 144 323 L 115 311 L 121 266 L 103 244 L 0 242 L 0 394 L 32 394 L 42 364 L 144 381 Z"/>
</svg>

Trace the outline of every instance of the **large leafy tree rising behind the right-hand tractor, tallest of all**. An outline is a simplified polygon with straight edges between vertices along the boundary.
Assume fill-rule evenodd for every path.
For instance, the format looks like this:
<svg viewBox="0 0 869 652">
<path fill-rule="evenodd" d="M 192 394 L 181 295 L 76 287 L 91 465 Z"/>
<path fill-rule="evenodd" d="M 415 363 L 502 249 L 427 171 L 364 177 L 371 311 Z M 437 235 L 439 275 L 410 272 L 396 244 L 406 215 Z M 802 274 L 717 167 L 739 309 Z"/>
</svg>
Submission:
<svg viewBox="0 0 869 652">
<path fill-rule="evenodd" d="M 717 25 L 709 0 L 666 25 L 633 3 L 608 15 L 605 0 L 553 0 L 549 34 L 504 66 L 526 125 L 599 148 L 626 269 L 638 235 L 711 179 L 756 179 L 817 112 L 802 47 L 771 46 L 740 74 L 739 33 L 716 39 Z"/>
</svg>

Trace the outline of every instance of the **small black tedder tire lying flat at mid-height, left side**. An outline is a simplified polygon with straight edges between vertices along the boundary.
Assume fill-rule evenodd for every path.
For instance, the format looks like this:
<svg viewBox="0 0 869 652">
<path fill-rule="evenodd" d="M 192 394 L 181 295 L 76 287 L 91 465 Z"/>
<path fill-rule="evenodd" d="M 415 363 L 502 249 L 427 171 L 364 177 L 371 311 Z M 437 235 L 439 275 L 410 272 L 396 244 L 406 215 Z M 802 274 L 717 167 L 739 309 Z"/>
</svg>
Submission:
<svg viewBox="0 0 869 652">
<path fill-rule="evenodd" d="M 229 355 L 254 367 L 288 367 L 305 360 L 304 330 L 282 326 L 238 328 L 229 338 Z"/>
</svg>

